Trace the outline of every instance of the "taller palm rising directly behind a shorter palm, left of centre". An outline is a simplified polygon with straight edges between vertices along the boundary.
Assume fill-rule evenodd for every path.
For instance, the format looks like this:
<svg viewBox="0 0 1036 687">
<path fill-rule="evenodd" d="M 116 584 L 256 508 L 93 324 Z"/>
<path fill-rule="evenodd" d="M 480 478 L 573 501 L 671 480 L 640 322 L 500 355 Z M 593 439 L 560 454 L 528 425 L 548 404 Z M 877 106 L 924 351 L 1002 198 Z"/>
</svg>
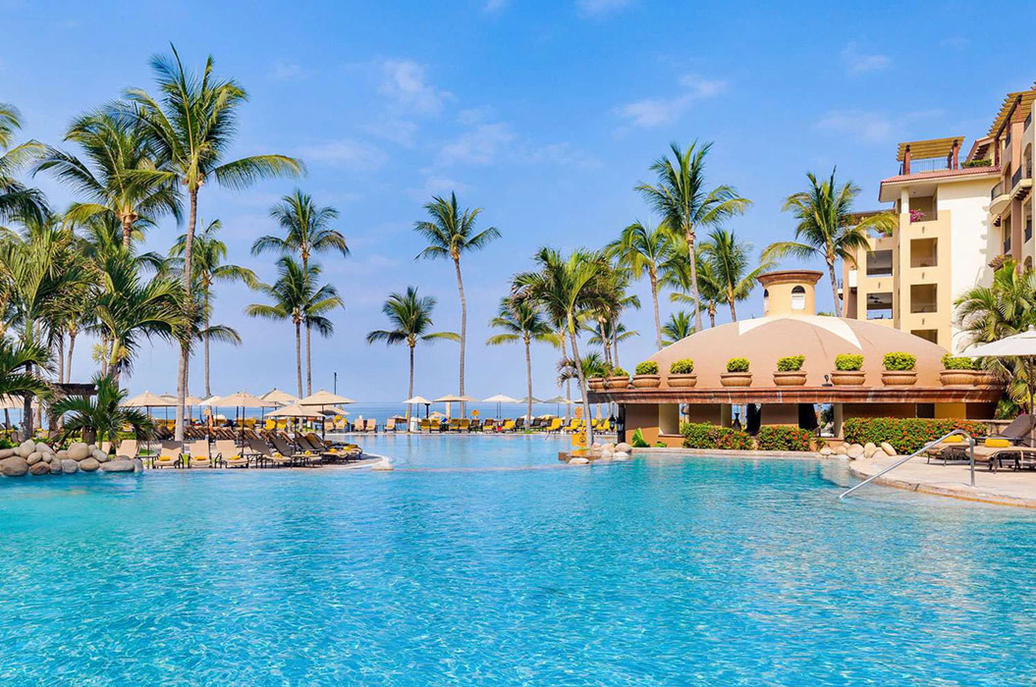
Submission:
<svg viewBox="0 0 1036 687">
<path fill-rule="evenodd" d="M 308 273 L 310 256 L 334 250 L 343 258 L 349 256 L 345 237 L 328 225 L 338 219 L 338 210 L 329 205 L 317 207 L 313 197 L 295 189 L 274 206 L 269 216 L 285 230 L 284 237 L 262 236 L 252 244 L 252 255 L 272 250 L 284 256 L 297 253 L 303 261 L 303 271 Z M 310 330 L 306 330 L 306 393 L 313 393 L 313 364 L 310 359 Z"/>
</svg>

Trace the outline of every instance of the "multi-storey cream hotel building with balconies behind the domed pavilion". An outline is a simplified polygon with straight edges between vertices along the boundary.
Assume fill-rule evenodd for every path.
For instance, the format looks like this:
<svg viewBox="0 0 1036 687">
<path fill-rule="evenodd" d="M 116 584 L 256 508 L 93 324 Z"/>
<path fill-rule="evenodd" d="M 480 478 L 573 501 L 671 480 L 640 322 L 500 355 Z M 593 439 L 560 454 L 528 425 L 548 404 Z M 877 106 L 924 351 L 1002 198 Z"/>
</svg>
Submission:
<svg viewBox="0 0 1036 687">
<path fill-rule="evenodd" d="M 883 179 L 898 227 L 871 237 L 846 261 L 846 318 L 910 332 L 959 352 L 953 303 L 988 285 L 1004 257 L 1032 265 L 1033 103 L 1036 90 L 1009 93 L 989 132 L 963 156 L 965 138 L 900 143 L 898 174 Z"/>
</svg>

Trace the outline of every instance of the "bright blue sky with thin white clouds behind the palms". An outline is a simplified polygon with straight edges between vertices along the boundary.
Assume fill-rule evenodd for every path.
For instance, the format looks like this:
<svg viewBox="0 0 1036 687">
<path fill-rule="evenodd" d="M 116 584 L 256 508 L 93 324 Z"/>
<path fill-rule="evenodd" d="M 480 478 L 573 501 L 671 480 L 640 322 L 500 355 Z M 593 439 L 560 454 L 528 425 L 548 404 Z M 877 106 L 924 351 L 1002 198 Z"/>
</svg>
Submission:
<svg viewBox="0 0 1036 687">
<path fill-rule="evenodd" d="M 776 4 L 776 3 L 775 3 Z M 785 4 L 785 3 L 781 3 Z M 842 6 L 844 4 L 844 6 Z M 877 181 L 896 171 L 901 140 L 984 133 L 1004 94 L 1034 73 L 979 37 L 987 17 L 974 3 L 662 3 L 650 0 L 461 0 L 459 2 L 276 3 L 184 1 L 174 5 L 11 2 L 0 42 L 0 100 L 15 103 L 25 136 L 58 143 L 69 120 L 130 86 L 151 87 L 148 57 L 174 42 L 191 64 L 211 53 L 220 74 L 237 79 L 251 101 L 241 113 L 237 155 L 303 157 L 297 182 L 338 207 L 352 256 L 323 257 L 346 309 L 333 339 L 316 340 L 315 386 L 332 384 L 363 400 L 402 399 L 404 348 L 369 347 L 384 325 L 391 291 L 416 285 L 439 300 L 435 321 L 456 329 L 459 304 L 447 263 L 414 262 L 411 231 L 433 193 L 456 190 L 484 208 L 484 226 L 503 238 L 465 259 L 469 298 L 467 391 L 522 395 L 518 347 L 486 348 L 512 273 L 535 248 L 600 246 L 633 219 L 652 220 L 633 186 L 670 141 L 715 142 L 713 183 L 754 202 L 730 222 L 756 248 L 790 236 L 781 200 L 807 171 L 863 188 L 859 209 L 876 207 Z M 1012 23 L 1032 22 L 1012 8 Z M 969 144 L 970 145 L 970 144 Z M 70 196 L 37 178 L 57 207 Z M 272 259 L 249 246 L 275 231 L 267 211 L 292 181 L 248 191 L 206 187 L 203 219 L 219 217 L 233 262 L 274 274 Z M 165 250 L 172 221 L 148 246 Z M 627 325 L 628 366 L 653 350 L 645 307 Z M 827 290 L 821 291 L 822 306 Z M 217 393 L 294 388 L 289 325 L 241 315 L 255 295 L 225 287 L 217 319 L 244 346 L 213 350 Z M 663 302 L 663 318 L 670 311 Z M 758 313 L 753 298 L 744 316 Z M 83 347 L 84 349 L 86 347 Z M 456 346 L 418 354 L 416 391 L 456 389 Z M 555 353 L 534 351 L 536 393 L 550 395 Z M 83 350 L 76 376 L 92 363 Z M 169 347 L 146 349 L 132 389 L 174 388 Z M 200 364 L 192 390 L 199 392 Z"/>
</svg>

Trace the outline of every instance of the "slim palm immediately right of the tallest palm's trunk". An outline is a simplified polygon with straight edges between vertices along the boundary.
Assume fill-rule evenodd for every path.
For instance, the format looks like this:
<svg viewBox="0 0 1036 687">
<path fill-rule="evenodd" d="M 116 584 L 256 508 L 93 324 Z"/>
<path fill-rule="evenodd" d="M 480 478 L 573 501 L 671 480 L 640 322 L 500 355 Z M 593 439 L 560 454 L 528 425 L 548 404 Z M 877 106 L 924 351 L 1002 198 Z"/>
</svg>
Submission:
<svg viewBox="0 0 1036 687">
<path fill-rule="evenodd" d="M 217 236 L 222 228 L 223 223 L 219 219 L 214 219 L 195 236 L 194 241 L 194 269 L 192 271 L 196 285 L 195 293 L 199 301 L 198 310 L 201 313 L 199 334 L 204 358 L 206 398 L 212 395 L 212 390 L 209 387 L 209 344 L 212 339 L 235 345 L 240 344 L 240 337 L 232 329 L 212 325 L 210 322 L 213 300 L 212 287 L 217 282 L 241 281 L 254 288 L 259 282 L 256 273 L 249 268 L 224 263 L 227 259 L 227 244 Z M 169 250 L 168 267 L 175 271 L 183 269 L 186 239 L 186 235 L 181 234 Z"/>
</svg>

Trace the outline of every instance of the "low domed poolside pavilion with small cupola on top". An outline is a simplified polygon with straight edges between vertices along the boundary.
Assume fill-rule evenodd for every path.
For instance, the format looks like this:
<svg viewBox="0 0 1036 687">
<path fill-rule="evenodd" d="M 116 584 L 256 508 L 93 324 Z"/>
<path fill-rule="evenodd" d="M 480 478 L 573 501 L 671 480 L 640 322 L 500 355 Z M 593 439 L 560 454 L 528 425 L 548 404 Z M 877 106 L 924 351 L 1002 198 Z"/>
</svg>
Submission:
<svg viewBox="0 0 1036 687">
<path fill-rule="evenodd" d="M 830 404 L 833 432 L 841 435 L 851 417 L 990 418 L 1002 385 L 977 376 L 968 384 L 947 384 L 942 376 L 945 348 L 927 338 L 867 320 L 815 315 L 819 272 L 789 270 L 759 276 L 764 317 L 697 332 L 650 358 L 658 363 L 657 386 L 592 387 L 591 402 L 615 402 L 620 426 L 640 429 L 655 443 L 681 446 L 682 420 L 730 426 L 735 420 L 749 431 L 764 424 L 813 429 L 817 411 Z M 916 375 L 906 384 L 887 378 L 887 353 L 917 358 Z M 846 380 L 836 372 L 835 357 L 862 355 L 861 372 Z M 799 379 L 775 375 L 777 360 L 804 356 Z M 750 375 L 726 374 L 730 358 L 746 358 Z M 693 386 L 667 375 L 677 360 L 694 361 Z M 678 382 L 682 383 L 677 386 Z M 792 383 L 790 385 L 788 383 Z M 746 384 L 747 383 L 747 384 Z"/>
</svg>

